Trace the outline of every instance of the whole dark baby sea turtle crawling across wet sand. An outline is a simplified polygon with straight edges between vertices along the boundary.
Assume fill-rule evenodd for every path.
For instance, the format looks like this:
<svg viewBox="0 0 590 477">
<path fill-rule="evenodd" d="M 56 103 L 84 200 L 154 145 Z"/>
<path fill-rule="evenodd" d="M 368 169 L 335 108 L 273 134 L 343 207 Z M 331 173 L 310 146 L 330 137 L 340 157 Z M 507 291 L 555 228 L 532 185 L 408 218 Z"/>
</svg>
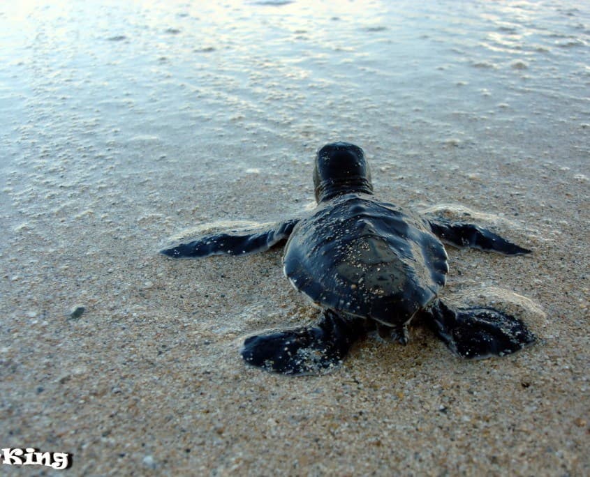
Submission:
<svg viewBox="0 0 590 477">
<path fill-rule="evenodd" d="M 228 230 L 162 250 L 169 257 L 246 255 L 288 239 L 283 270 L 295 289 L 321 308 L 314 326 L 247 338 L 247 363 L 283 374 L 314 374 L 338 365 L 367 329 L 402 344 L 421 315 L 463 358 L 510 354 L 535 337 L 524 323 L 493 308 L 453 310 L 439 298 L 448 273 L 441 241 L 506 255 L 530 250 L 464 222 L 422 218 L 373 195 L 360 147 L 346 142 L 318 151 L 318 206 L 272 227 Z"/>
</svg>

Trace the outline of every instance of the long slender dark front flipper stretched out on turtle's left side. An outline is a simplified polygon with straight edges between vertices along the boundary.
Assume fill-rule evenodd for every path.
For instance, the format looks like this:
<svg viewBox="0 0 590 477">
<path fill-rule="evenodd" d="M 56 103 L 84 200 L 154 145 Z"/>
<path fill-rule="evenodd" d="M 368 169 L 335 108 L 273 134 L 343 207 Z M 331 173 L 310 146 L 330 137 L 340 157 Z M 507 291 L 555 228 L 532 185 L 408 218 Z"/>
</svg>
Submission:
<svg viewBox="0 0 590 477">
<path fill-rule="evenodd" d="M 189 243 L 179 243 L 161 250 L 172 258 L 209 257 L 209 255 L 246 255 L 264 252 L 276 243 L 288 239 L 300 219 L 279 222 L 272 229 L 228 230 L 206 235 Z"/>
</svg>

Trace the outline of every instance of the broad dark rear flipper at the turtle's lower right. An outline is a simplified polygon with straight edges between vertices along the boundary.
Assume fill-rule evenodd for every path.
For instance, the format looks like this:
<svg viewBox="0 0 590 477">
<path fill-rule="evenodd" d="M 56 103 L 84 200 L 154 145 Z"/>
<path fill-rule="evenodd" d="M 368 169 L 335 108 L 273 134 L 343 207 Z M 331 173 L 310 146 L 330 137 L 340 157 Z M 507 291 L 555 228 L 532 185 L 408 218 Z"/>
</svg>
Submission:
<svg viewBox="0 0 590 477">
<path fill-rule="evenodd" d="M 436 300 L 427 319 L 438 338 L 462 358 L 504 356 L 535 342 L 521 320 L 494 308 L 452 310 Z"/>
</svg>

